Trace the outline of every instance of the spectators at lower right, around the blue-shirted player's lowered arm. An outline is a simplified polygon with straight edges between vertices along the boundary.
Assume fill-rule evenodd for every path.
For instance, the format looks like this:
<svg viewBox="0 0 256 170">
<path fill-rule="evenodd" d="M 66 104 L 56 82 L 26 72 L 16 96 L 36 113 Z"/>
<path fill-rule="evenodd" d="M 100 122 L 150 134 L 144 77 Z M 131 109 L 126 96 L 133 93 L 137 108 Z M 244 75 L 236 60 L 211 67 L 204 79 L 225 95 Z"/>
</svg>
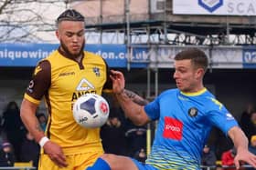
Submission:
<svg viewBox="0 0 256 170">
<path fill-rule="evenodd" d="M 240 115 L 240 127 L 247 136 L 249 140 L 249 150 L 251 153 L 256 155 L 256 109 L 253 105 L 249 104 L 247 105 L 247 108 L 245 111 Z M 220 137 L 221 138 L 221 137 Z M 234 166 L 234 158 L 236 155 L 236 149 L 233 146 L 233 144 L 230 143 L 229 138 L 226 138 L 225 140 L 222 140 L 219 138 L 217 139 L 219 141 L 219 145 L 224 146 L 222 148 L 222 152 L 219 152 L 219 148 L 217 148 L 215 145 L 205 145 L 203 149 L 203 155 L 202 155 L 202 165 L 205 166 L 215 166 L 215 165 L 221 165 L 222 167 L 229 167 L 229 170 L 235 170 Z M 218 162 L 218 160 L 220 162 Z M 245 165 L 244 163 L 240 163 L 242 165 Z M 220 168 L 221 169 L 221 168 Z M 246 168 L 240 168 L 240 169 L 247 169 L 251 170 L 253 168 L 246 167 Z"/>
</svg>

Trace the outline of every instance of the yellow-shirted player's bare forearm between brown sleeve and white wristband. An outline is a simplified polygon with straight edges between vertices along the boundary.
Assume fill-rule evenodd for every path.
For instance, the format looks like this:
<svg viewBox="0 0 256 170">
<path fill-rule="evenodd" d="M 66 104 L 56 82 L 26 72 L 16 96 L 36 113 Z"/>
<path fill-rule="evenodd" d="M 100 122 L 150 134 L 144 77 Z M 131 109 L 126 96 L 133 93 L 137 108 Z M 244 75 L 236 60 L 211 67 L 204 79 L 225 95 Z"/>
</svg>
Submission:
<svg viewBox="0 0 256 170">
<path fill-rule="evenodd" d="M 26 99 L 23 100 L 20 107 L 20 116 L 27 130 L 34 136 L 35 140 L 39 140 L 45 136 L 43 129 L 40 127 L 36 116 L 37 105 L 32 105 Z"/>
</svg>

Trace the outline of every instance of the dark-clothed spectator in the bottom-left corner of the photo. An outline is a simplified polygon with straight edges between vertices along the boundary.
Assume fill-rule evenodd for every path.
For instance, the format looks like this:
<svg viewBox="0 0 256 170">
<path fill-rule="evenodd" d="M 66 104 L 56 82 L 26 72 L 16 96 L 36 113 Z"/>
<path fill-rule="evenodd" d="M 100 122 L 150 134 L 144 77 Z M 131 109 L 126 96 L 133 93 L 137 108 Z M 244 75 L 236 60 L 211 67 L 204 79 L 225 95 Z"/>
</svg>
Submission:
<svg viewBox="0 0 256 170">
<path fill-rule="evenodd" d="M 2 147 L 0 150 L 0 166 L 13 166 L 15 164 L 16 157 L 13 152 L 12 145 L 10 143 L 5 142 L 1 146 Z"/>
</svg>

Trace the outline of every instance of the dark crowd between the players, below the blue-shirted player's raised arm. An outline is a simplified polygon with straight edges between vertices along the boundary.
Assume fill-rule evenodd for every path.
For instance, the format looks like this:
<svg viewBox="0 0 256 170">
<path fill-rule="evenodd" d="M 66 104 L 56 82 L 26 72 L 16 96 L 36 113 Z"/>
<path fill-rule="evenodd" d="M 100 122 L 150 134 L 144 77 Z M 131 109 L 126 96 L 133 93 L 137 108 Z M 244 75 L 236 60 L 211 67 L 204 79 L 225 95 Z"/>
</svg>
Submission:
<svg viewBox="0 0 256 170">
<path fill-rule="evenodd" d="M 112 97 L 109 120 L 101 127 L 102 145 L 106 153 L 128 155 L 145 160 L 146 126 L 137 126 L 124 116 Z"/>
</svg>

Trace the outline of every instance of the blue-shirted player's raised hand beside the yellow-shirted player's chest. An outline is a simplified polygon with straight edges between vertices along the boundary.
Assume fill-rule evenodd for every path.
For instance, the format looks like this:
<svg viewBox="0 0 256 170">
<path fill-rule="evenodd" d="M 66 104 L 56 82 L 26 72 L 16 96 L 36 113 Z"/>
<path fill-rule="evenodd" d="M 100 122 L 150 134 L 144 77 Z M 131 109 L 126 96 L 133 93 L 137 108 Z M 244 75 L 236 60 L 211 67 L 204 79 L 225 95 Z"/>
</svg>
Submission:
<svg viewBox="0 0 256 170">
<path fill-rule="evenodd" d="M 123 93 L 125 80 L 122 72 L 111 70 L 112 79 L 112 92 L 114 94 L 121 94 Z"/>
</svg>

